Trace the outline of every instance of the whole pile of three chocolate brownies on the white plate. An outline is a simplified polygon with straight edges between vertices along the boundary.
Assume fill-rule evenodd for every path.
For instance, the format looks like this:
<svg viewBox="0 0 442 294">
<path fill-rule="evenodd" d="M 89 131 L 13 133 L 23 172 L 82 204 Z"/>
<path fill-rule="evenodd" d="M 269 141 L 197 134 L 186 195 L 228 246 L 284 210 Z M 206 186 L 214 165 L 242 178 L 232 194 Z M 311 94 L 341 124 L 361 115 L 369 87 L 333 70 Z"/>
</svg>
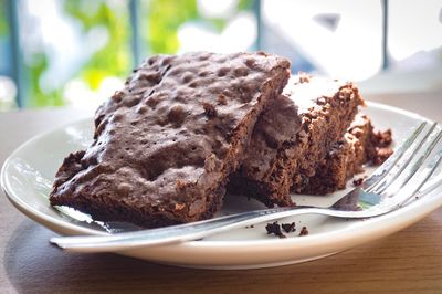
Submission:
<svg viewBox="0 0 442 294">
<path fill-rule="evenodd" d="M 213 217 L 229 179 L 231 192 L 292 206 L 292 191 L 340 189 L 388 157 L 391 136 L 355 120 L 355 84 L 287 84 L 290 66 L 263 52 L 145 60 L 97 109 L 92 144 L 62 162 L 51 204 L 156 228 Z"/>
</svg>

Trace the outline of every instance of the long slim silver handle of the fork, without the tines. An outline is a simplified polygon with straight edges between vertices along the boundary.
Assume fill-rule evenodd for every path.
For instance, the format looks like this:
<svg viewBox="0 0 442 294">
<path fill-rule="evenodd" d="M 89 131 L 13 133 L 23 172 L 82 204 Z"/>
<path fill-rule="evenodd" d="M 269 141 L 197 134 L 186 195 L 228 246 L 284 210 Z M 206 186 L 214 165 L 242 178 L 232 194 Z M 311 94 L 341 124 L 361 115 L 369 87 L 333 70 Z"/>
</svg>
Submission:
<svg viewBox="0 0 442 294">
<path fill-rule="evenodd" d="M 215 233 L 274 219 L 308 213 L 324 214 L 324 212 L 325 209 L 322 208 L 301 206 L 263 209 L 159 229 L 108 235 L 54 237 L 51 238 L 50 241 L 62 249 L 76 252 L 115 252 L 140 246 L 145 248 L 198 240 Z M 340 214 L 348 211 L 336 212 Z"/>
</svg>

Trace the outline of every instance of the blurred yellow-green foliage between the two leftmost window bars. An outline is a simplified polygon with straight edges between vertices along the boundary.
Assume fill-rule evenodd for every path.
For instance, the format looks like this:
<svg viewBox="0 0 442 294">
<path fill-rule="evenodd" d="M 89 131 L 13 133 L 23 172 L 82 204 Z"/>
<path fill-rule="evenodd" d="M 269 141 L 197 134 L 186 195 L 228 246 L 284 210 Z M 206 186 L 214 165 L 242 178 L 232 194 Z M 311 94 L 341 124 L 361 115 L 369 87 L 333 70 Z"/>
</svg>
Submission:
<svg viewBox="0 0 442 294">
<path fill-rule="evenodd" d="M 125 1 L 127 3 L 127 1 Z M 81 78 L 86 82 L 91 90 L 97 90 L 105 77 L 127 75 L 131 66 L 129 51 L 130 29 L 128 25 L 127 4 L 126 9 L 113 9 L 105 0 L 65 0 L 63 8 L 73 21 L 78 22 L 83 33 L 87 33 L 97 25 L 105 28 L 108 33 L 108 42 L 97 52 L 91 55 L 88 61 L 74 74 L 72 78 Z M 36 53 L 28 67 L 28 104 L 29 107 L 59 106 L 63 99 L 63 88 L 43 92 L 39 86 L 40 78 L 48 69 L 48 56 L 45 52 Z"/>
</svg>

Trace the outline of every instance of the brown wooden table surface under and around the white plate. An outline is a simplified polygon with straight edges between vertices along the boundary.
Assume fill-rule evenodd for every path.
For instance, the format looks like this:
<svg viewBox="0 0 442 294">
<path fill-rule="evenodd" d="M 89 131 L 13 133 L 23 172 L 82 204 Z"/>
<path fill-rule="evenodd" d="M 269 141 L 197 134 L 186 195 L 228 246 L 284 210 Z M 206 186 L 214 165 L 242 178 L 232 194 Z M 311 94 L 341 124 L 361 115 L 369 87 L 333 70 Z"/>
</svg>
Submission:
<svg viewBox="0 0 442 294">
<path fill-rule="evenodd" d="M 442 122 L 442 93 L 372 96 Z M 92 112 L 0 114 L 0 165 L 24 140 Z M 158 265 L 115 254 L 65 253 L 54 233 L 27 219 L 0 192 L 0 292 L 282 292 L 442 293 L 442 209 L 422 221 L 346 252 L 273 269 L 207 271 Z"/>
</svg>

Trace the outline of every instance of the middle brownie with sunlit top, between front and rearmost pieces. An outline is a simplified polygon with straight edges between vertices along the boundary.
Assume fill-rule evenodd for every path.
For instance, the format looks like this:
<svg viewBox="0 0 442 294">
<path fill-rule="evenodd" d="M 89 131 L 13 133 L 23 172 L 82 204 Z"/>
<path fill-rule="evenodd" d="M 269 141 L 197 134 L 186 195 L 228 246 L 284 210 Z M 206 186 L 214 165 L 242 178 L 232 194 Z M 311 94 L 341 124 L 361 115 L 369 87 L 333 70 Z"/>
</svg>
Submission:
<svg viewBox="0 0 442 294">
<path fill-rule="evenodd" d="M 291 190 L 302 191 L 317 165 L 350 126 L 364 105 L 352 83 L 293 76 L 283 95 L 256 123 L 242 167 L 229 190 L 266 206 L 292 206 Z"/>
</svg>

